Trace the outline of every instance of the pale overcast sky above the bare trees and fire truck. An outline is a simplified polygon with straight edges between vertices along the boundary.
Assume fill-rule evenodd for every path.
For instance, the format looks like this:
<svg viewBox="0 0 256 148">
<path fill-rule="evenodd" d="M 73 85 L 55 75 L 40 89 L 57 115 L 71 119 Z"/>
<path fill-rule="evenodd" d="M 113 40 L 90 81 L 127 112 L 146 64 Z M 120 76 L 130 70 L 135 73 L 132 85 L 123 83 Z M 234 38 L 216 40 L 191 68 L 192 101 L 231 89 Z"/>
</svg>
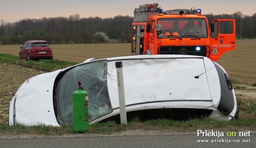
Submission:
<svg viewBox="0 0 256 148">
<path fill-rule="evenodd" d="M 0 20 L 16 22 L 23 18 L 68 17 L 110 18 L 117 15 L 133 16 L 134 8 L 158 2 L 164 10 L 201 8 L 202 14 L 233 14 L 241 11 L 252 16 L 256 0 L 0 0 Z"/>
</svg>

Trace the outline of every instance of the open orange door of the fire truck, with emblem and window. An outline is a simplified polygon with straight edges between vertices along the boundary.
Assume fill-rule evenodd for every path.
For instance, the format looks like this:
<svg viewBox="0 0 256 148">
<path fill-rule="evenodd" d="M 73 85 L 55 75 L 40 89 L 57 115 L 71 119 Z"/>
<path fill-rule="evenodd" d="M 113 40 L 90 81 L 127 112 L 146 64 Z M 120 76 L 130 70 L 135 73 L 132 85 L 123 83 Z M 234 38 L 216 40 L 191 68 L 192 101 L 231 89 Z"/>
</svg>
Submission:
<svg viewBox="0 0 256 148">
<path fill-rule="evenodd" d="M 210 34 L 210 59 L 218 60 L 222 54 L 236 49 L 236 24 L 234 19 L 213 20 L 214 32 Z"/>
</svg>

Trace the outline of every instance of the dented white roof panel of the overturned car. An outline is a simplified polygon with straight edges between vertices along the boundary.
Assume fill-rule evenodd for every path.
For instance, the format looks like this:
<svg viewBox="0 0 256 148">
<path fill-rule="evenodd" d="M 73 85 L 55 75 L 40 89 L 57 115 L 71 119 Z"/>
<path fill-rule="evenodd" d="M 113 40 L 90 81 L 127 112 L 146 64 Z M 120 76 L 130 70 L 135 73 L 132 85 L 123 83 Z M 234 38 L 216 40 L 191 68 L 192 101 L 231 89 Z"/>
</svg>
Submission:
<svg viewBox="0 0 256 148">
<path fill-rule="evenodd" d="M 125 98 L 128 98 L 126 104 L 136 104 L 145 101 L 175 101 L 178 98 L 179 100 L 211 101 L 205 74 L 200 76 L 200 79 L 191 79 L 189 76 L 182 74 L 190 73 L 190 76 L 193 77 L 202 74 L 205 71 L 203 63 L 200 62 L 202 59 L 192 59 L 193 62 L 197 62 L 196 64 L 192 63 L 191 59 L 186 60 L 188 60 L 186 64 L 182 63 L 184 59 L 169 60 L 170 62 L 167 63 L 166 60 L 162 60 L 162 63 L 154 59 L 148 60 L 146 63 L 138 60 L 138 64 L 135 65 L 132 64 L 136 62 L 134 60 L 123 61 Z M 153 69 L 154 72 L 152 72 Z M 113 108 L 119 107 L 116 84 L 115 61 L 108 62 L 108 88 Z M 195 89 L 195 85 L 202 88 Z M 180 106 L 176 107 L 180 108 Z"/>
</svg>

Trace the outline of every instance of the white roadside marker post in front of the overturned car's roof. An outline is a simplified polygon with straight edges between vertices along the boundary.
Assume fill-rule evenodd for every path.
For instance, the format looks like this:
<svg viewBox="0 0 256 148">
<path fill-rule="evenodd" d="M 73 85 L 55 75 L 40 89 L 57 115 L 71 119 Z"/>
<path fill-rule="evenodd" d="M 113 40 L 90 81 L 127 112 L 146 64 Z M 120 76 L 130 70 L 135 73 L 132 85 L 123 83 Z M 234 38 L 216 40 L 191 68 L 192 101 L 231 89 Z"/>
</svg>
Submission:
<svg viewBox="0 0 256 148">
<path fill-rule="evenodd" d="M 122 70 L 122 62 L 116 62 L 116 76 L 117 76 L 117 87 L 118 87 L 118 98 L 119 98 L 119 109 L 120 109 L 120 121 L 121 124 L 127 124 L 126 117 L 126 106 L 124 98 L 124 78 Z"/>
</svg>

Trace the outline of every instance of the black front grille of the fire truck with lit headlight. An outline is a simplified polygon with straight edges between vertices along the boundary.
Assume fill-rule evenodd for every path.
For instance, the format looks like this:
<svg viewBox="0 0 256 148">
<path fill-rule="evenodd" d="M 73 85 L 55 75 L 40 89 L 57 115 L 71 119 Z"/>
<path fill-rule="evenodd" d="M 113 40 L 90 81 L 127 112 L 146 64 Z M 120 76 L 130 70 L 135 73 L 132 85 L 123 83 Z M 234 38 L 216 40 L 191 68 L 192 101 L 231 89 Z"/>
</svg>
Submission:
<svg viewBox="0 0 256 148">
<path fill-rule="evenodd" d="M 183 54 L 194 56 L 207 56 L 210 54 L 208 46 L 161 46 L 158 49 L 158 54 Z"/>
</svg>

